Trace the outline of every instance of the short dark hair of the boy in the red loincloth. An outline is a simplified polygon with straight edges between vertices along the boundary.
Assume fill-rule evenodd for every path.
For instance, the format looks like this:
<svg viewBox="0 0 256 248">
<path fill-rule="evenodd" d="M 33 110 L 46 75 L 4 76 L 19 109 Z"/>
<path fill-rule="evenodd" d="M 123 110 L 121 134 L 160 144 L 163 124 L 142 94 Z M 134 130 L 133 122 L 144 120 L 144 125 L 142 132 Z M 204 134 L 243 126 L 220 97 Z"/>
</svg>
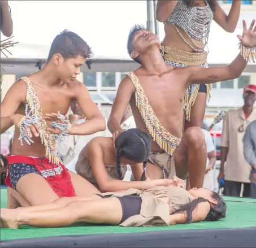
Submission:
<svg viewBox="0 0 256 248">
<path fill-rule="evenodd" d="M 79 35 L 65 29 L 51 43 L 47 62 L 54 54 L 60 54 L 64 59 L 76 58 L 79 55 L 88 59 L 92 56 L 92 50 Z"/>
</svg>

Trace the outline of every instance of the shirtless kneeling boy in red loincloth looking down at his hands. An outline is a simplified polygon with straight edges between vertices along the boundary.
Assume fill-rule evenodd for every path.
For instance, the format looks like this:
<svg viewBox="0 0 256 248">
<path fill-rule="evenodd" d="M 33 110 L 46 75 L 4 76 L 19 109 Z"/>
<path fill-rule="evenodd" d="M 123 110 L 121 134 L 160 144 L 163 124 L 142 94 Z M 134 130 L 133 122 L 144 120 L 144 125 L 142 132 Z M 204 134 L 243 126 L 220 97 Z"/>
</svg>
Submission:
<svg viewBox="0 0 256 248">
<path fill-rule="evenodd" d="M 63 31 L 51 44 L 45 67 L 16 81 L 1 103 L 1 133 L 15 125 L 6 183 L 31 206 L 63 196 L 99 193 L 83 177 L 67 171 L 56 150 L 57 137 L 62 134 L 88 135 L 106 129 L 86 86 L 76 80 L 90 55 L 90 47 L 81 37 Z M 59 120 L 72 101 L 77 101 L 87 118 L 75 127 Z"/>
</svg>

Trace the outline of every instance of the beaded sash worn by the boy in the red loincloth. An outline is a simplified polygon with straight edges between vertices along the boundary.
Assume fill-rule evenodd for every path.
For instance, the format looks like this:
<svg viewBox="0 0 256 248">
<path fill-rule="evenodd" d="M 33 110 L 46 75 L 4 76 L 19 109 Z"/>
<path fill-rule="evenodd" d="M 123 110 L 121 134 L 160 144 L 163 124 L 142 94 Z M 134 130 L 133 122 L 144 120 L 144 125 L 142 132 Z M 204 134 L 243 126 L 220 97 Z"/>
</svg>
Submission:
<svg viewBox="0 0 256 248">
<path fill-rule="evenodd" d="M 31 81 L 28 79 L 28 77 L 21 77 L 20 79 L 23 80 L 27 85 L 25 108 L 29 108 L 29 111 L 27 111 L 29 115 L 36 115 L 39 118 L 38 126 L 40 128 L 41 142 L 45 146 L 46 150 L 45 156 L 49 159 L 50 163 L 59 165 L 60 163 L 62 163 L 62 160 L 58 156 L 56 138 L 47 130 L 47 124 L 45 119 L 43 118 L 44 114 L 42 112 L 42 108 L 40 106 L 37 94 L 34 91 L 34 87 L 32 86 Z"/>
</svg>

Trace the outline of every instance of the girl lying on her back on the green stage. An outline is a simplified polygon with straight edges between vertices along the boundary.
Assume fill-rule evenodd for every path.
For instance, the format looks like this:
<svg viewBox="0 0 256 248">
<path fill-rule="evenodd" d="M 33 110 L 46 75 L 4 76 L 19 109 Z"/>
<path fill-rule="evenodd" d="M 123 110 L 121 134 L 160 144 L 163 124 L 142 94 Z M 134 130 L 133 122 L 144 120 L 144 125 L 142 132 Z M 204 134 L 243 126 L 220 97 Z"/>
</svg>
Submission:
<svg viewBox="0 0 256 248">
<path fill-rule="evenodd" d="M 1 208 L 1 225 L 53 228 L 74 223 L 145 227 L 216 221 L 225 217 L 226 204 L 209 189 L 186 191 L 173 186 L 148 190 L 129 189 L 124 193 L 94 194 L 60 198 L 47 205 Z"/>
</svg>

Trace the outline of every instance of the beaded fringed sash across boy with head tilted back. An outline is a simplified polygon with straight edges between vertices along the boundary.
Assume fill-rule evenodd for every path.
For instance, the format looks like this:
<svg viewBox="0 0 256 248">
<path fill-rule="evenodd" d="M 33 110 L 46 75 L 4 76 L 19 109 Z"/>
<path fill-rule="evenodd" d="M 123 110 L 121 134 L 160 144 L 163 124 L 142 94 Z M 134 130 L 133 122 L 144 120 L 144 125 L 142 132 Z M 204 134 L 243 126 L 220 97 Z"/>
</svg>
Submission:
<svg viewBox="0 0 256 248">
<path fill-rule="evenodd" d="M 153 137 L 153 140 L 157 142 L 160 148 L 172 156 L 181 139 L 176 138 L 175 136 L 170 134 L 160 124 L 160 121 L 155 115 L 149 103 L 149 100 L 146 97 L 144 89 L 140 84 L 140 81 L 138 81 L 137 76 L 133 72 L 128 73 L 128 76 L 132 80 L 133 85 L 136 89 L 136 106 L 140 111 L 141 117 L 144 120 L 147 130 L 149 130 L 149 133 Z"/>
</svg>

